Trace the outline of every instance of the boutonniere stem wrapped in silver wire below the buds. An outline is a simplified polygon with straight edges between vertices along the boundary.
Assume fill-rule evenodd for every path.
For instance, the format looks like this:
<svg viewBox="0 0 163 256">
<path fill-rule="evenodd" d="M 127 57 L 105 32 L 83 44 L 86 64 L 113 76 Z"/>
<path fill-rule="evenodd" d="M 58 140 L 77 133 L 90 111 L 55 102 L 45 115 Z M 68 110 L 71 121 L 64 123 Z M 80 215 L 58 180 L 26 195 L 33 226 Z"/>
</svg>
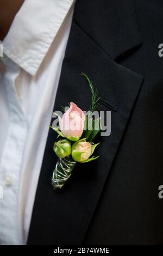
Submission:
<svg viewBox="0 0 163 256">
<path fill-rule="evenodd" d="M 77 162 L 71 157 L 59 158 L 55 166 L 52 176 L 52 185 L 54 190 L 62 188 L 66 181 L 70 178 L 72 170 Z"/>
</svg>

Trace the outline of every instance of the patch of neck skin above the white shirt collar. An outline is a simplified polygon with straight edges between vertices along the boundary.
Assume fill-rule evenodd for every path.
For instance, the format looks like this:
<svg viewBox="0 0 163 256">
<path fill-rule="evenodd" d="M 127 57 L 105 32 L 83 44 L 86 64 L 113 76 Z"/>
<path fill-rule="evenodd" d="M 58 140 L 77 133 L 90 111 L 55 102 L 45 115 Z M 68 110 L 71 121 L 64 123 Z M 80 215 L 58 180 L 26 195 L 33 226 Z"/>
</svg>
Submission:
<svg viewBox="0 0 163 256">
<path fill-rule="evenodd" d="M 0 40 L 7 35 L 12 21 L 24 0 L 1 0 L 0 5 Z"/>
</svg>

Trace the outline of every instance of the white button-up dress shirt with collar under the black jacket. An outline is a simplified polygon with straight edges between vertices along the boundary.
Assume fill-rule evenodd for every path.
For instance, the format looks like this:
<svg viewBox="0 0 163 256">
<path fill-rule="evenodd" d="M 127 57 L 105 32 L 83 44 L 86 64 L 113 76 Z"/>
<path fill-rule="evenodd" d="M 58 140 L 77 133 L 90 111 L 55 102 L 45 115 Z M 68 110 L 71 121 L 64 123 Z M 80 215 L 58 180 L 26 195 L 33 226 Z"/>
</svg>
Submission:
<svg viewBox="0 0 163 256">
<path fill-rule="evenodd" d="M 3 40 L 0 245 L 27 241 L 73 9 L 73 0 L 26 0 Z"/>
</svg>

